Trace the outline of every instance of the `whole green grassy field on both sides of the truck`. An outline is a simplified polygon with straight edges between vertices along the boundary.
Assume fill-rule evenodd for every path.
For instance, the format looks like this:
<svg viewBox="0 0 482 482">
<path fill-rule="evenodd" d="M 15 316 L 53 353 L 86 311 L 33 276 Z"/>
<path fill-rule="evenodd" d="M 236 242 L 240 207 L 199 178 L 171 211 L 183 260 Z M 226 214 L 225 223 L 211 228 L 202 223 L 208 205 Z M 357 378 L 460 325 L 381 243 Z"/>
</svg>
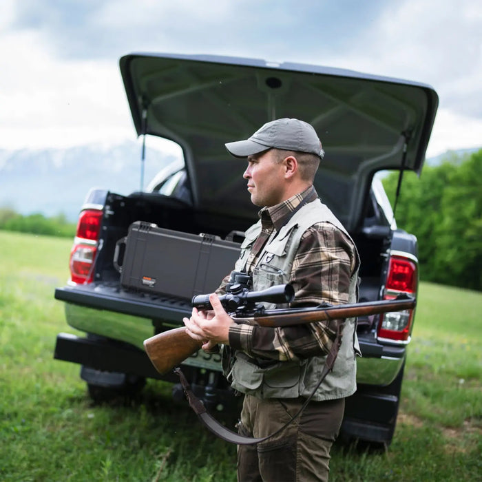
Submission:
<svg viewBox="0 0 482 482">
<path fill-rule="evenodd" d="M 235 447 L 149 381 L 94 405 L 79 367 L 52 358 L 65 324 L 54 288 L 71 241 L 0 231 L 0 480 L 235 481 Z M 395 438 L 333 449 L 331 481 L 482 478 L 482 293 L 421 284 Z"/>
</svg>

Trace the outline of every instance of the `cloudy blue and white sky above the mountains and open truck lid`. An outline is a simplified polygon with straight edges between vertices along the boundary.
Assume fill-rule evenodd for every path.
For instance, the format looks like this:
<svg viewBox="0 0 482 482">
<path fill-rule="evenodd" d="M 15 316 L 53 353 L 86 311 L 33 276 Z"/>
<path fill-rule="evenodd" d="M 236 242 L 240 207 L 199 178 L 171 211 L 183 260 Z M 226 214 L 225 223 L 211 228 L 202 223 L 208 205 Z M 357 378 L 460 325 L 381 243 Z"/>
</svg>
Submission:
<svg viewBox="0 0 482 482">
<path fill-rule="evenodd" d="M 217 54 L 427 83 L 427 156 L 482 147 L 476 0 L 2 0 L 0 149 L 135 140 L 118 59 Z"/>
</svg>

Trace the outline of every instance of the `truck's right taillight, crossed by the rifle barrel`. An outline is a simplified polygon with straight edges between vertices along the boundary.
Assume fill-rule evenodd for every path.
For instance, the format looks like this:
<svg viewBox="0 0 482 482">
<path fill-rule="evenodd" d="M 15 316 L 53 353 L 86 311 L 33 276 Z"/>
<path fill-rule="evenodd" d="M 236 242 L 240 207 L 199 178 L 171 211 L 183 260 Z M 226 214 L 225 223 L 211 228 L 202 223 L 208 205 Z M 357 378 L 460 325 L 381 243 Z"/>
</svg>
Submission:
<svg viewBox="0 0 482 482">
<path fill-rule="evenodd" d="M 392 300 L 401 293 L 417 293 L 417 262 L 401 255 L 391 255 L 384 300 Z M 387 342 L 408 343 L 413 310 L 394 311 L 380 316 L 378 339 Z"/>
</svg>

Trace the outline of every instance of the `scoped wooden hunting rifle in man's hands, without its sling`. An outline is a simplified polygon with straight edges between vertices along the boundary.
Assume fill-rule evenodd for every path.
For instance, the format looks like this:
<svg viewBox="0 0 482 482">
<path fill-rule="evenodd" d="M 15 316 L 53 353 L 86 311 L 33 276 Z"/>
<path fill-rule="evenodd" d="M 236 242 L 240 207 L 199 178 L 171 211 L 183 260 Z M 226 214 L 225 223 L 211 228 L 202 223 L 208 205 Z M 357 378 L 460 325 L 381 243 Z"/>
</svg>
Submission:
<svg viewBox="0 0 482 482">
<path fill-rule="evenodd" d="M 322 304 L 310 308 L 279 308 L 265 310 L 258 302 L 275 304 L 289 303 L 293 300 L 291 284 L 280 284 L 262 291 L 249 291 L 240 284 L 229 287 L 229 293 L 220 296 L 222 306 L 236 323 L 249 323 L 271 328 L 297 324 L 321 322 L 331 319 L 344 319 L 366 315 L 377 315 L 389 311 L 403 311 L 415 308 L 416 300 L 408 295 L 399 295 L 394 300 L 342 304 L 333 306 Z M 211 308 L 209 295 L 193 297 L 192 306 L 200 310 Z M 174 328 L 144 341 L 144 348 L 152 364 L 162 375 L 178 366 L 196 353 L 202 346 L 187 335 L 186 328 Z"/>
</svg>

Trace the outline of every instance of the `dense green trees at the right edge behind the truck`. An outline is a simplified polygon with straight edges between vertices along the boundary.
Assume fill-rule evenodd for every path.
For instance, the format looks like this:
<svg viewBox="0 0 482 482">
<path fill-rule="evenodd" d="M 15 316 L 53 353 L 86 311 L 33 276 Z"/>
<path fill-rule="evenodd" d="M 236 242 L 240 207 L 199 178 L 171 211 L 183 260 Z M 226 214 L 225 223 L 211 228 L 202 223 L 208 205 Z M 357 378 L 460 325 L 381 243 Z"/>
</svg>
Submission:
<svg viewBox="0 0 482 482">
<path fill-rule="evenodd" d="M 392 206 L 398 178 L 382 180 Z M 421 280 L 482 291 L 482 149 L 405 173 L 396 209 L 419 240 Z"/>
</svg>

